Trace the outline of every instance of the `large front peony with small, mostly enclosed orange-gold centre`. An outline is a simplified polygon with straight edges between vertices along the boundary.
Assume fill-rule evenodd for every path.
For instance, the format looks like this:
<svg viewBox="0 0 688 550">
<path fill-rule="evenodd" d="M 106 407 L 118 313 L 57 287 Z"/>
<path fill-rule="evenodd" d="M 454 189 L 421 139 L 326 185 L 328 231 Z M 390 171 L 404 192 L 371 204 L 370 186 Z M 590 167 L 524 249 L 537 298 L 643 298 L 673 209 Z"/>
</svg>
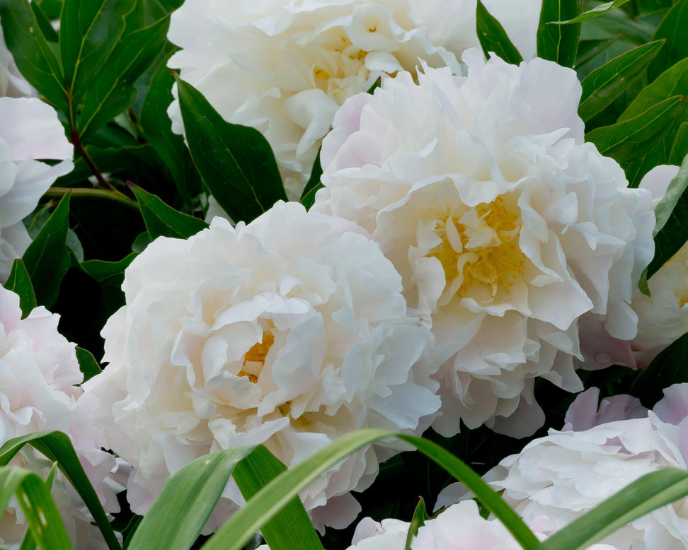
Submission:
<svg viewBox="0 0 688 550">
<path fill-rule="evenodd" d="M 84 385 L 110 447 L 135 468 L 134 511 L 208 452 L 264 443 L 289 465 L 357 428 L 428 426 L 440 405 L 422 361 L 429 332 L 362 233 L 280 202 L 248 226 L 215 218 L 134 259 L 126 305 L 102 333 L 110 364 Z M 304 491 L 316 524 L 348 525 L 360 509 L 348 492 L 400 448 L 379 442 Z M 243 502 L 233 482 L 224 497 L 207 529 Z"/>
</svg>

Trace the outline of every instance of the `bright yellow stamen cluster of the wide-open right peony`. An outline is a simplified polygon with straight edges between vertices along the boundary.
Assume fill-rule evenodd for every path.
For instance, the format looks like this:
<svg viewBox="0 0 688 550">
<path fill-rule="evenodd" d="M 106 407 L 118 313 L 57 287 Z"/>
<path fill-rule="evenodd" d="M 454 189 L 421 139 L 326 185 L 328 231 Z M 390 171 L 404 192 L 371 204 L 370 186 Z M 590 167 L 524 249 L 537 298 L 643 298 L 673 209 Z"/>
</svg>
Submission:
<svg viewBox="0 0 688 550">
<path fill-rule="evenodd" d="M 442 262 L 447 286 L 445 298 L 468 296 L 476 288 L 489 289 L 496 298 L 507 293 L 524 271 L 524 254 L 518 246 L 520 216 L 509 211 L 503 197 L 481 203 L 460 218 L 450 213 L 435 230 L 442 239 L 430 255 Z"/>
</svg>

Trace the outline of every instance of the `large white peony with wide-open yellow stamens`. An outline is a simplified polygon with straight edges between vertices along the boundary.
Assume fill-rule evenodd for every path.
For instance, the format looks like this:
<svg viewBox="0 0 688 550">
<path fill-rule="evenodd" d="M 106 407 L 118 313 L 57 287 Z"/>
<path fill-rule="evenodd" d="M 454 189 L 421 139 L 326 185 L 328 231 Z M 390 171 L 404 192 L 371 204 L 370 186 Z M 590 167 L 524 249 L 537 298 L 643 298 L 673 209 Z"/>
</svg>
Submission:
<svg viewBox="0 0 688 550">
<path fill-rule="evenodd" d="M 544 422 L 534 380 L 582 390 L 579 320 L 636 334 L 653 252 L 650 194 L 583 143 L 580 83 L 533 59 L 463 57 L 468 76 L 400 73 L 338 111 L 314 209 L 359 223 L 432 327 L 442 435 Z M 611 284 L 614 281 L 614 284 Z"/>
</svg>

